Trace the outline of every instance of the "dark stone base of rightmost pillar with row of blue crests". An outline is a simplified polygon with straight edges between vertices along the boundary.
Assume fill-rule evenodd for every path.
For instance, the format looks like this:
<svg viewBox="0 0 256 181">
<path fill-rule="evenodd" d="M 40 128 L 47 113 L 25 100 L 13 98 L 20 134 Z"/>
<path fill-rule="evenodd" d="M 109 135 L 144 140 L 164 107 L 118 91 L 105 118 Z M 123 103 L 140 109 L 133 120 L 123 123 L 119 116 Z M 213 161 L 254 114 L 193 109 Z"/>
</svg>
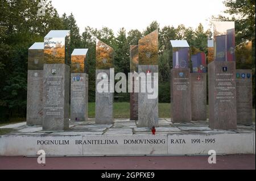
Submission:
<svg viewBox="0 0 256 181">
<path fill-rule="evenodd" d="M 253 124 L 253 82 L 251 70 L 237 69 L 237 124 Z"/>
</svg>

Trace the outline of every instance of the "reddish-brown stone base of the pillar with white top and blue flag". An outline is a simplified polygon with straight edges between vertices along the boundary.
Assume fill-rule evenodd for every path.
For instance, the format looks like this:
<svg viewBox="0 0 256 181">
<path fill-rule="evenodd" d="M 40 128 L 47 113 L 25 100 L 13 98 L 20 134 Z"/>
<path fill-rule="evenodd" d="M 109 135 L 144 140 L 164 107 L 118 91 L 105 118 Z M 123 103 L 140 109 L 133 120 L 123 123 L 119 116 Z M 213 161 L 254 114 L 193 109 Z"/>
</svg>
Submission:
<svg viewBox="0 0 256 181">
<path fill-rule="evenodd" d="M 171 70 L 172 123 L 191 121 L 191 77 L 189 69 Z"/>
</svg>

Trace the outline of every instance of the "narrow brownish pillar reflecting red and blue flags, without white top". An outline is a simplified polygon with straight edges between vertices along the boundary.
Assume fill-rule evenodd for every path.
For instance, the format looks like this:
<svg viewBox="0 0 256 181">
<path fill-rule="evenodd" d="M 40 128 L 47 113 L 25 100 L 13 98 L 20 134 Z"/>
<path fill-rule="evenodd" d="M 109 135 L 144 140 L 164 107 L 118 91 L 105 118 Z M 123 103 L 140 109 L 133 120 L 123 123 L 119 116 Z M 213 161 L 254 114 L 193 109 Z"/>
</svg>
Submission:
<svg viewBox="0 0 256 181">
<path fill-rule="evenodd" d="M 207 120 L 207 73 L 205 53 L 192 54 L 191 120 Z"/>
</svg>

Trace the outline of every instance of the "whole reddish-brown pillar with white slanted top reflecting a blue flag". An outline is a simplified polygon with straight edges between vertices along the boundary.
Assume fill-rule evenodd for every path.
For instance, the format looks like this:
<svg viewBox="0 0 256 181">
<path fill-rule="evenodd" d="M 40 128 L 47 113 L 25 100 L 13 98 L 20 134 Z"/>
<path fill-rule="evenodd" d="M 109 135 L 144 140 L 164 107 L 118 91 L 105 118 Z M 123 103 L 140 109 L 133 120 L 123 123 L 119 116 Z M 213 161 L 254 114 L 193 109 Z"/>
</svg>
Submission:
<svg viewBox="0 0 256 181">
<path fill-rule="evenodd" d="M 186 40 L 171 40 L 171 49 L 171 120 L 172 123 L 188 123 L 191 121 L 189 45 Z"/>
</svg>

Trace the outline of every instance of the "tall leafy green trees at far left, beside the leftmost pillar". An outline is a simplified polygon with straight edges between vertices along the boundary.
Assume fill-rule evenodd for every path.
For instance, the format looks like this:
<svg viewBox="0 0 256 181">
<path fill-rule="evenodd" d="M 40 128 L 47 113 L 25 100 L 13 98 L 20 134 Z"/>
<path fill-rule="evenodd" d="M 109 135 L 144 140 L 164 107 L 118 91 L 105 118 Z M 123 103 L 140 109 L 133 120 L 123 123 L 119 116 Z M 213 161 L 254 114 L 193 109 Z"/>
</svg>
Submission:
<svg viewBox="0 0 256 181">
<path fill-rule="evenodd" d="M 38 16 L 39 1 L 2 0 L 0 6 L 1 102 L 5 119 L 26 116 L 27 50 L 43 41 L 49 30 L 63 28 L 57 11 L 46 2 L 46 15 Z M 1 115 L 2 116 L 2 115 Z"/>
</svg>

